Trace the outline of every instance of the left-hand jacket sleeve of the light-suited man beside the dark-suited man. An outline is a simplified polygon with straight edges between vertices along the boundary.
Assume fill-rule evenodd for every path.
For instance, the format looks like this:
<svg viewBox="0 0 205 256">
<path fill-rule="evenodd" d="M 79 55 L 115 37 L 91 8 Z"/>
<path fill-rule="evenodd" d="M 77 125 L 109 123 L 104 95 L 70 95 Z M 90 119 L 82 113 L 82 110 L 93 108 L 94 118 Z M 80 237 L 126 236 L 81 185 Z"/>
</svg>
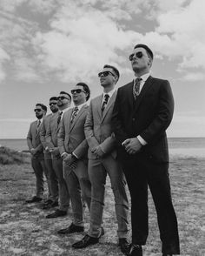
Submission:
<svg viewBox="0 0 205 256">
<path fill-rule="evenodd" d="M 94 123 L 93 123 L 93 111 L 92 111 L 92 101 L 89 104 L 89 111 L 87 118 L 85 120 L 84 132 L 85 138 L 87 139 L 90 150 L 96 148 L 99 145 L 98 141 L 95 138 L 93 131 Z"/>
</svg>

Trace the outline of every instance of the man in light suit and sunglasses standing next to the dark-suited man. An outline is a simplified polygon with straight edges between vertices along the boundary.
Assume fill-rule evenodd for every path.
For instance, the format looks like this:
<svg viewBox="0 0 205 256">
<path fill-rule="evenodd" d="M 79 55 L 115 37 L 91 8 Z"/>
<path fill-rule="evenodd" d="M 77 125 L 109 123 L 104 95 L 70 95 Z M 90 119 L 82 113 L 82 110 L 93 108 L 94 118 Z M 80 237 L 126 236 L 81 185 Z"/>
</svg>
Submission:
<svg viewBox="0 0 205 256">
<path fill-rule="evenodd" d="M 116 202 L 117 235 L 119 246 L 124 252 L 127 242 L 129 204 L 125 192 L 125 179 L 122 169 L 116 161 L 116 139 L 111 129 L 111 116 L 116 100 L 115 86 L 119 71 L 111 65 L 104 65 L 98 74 L 103 93 L 93 98 L 85 122 L 85 137 L 89 144 L 89 179 L 91 182 L 91 205 L 89 232 L 73 244 L 74 248 L 83 248 L 98 243 L 104 231 L 102 212 L 106 177 L 109 175 Z"/>
</svg>

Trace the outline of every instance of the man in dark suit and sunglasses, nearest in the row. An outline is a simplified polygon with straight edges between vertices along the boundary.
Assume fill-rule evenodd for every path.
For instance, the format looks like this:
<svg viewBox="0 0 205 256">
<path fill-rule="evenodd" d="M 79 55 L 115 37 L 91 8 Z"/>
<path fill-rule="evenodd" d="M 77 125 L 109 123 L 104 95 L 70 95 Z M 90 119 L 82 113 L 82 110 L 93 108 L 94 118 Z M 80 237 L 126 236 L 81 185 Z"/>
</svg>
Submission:
<svg viewBox="0 0 205 256">
<path fill-rule="evenodd" d="M 148 185 L 157 212 L 162 255 L 179 254 L 179 236 L 169 184 L 166 129 L 173 117 L 169 81 L 151 77 L 153 52 L 137 44 L 129 56 L 134 81 L 119 88 L 113 111 L 118 142 L 131 196 L 132 244 L 127 255 L 142 256 L 149 233 Z"/>
</svg>

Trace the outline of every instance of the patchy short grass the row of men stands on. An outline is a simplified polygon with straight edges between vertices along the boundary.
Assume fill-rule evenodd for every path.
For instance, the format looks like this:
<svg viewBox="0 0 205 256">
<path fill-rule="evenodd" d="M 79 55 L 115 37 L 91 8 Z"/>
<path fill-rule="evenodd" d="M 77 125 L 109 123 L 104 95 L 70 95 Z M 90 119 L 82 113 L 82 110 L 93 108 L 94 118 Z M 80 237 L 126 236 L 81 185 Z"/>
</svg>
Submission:
<svg viewBox="0 0 205 256">
<path fill-rule="evenodd" d="M 0 165 L 0 255 L 86 255 L 122 256 L 117 244 L 114 198 L 109 179 L 106 187 L 100 244 L 74 250 L 71 245 L 83 234 L 59 236 L 56 231 L 71 222 L 68 216 L 45 219 L 48 211 L 39 204 L 25 205 L 35 192 L 35 177 L 28 158 L 22 165 Z M 182 255 L 205 255 L 204 158 L 171 158 L 169 174 L 173 203 L 178 217 Z M 45 192 L 46 197 L 46 192 Z M 130 227 L 130 226 L 129 226 Z M 89 212 L 85 211 L 85 229 L 89 228 Z M 130 237 L 130 232 L 129 232 Z M 162 255 L 155 207 L 149 195 L 149 239 L 143 247 L 145 256 Z"/>
</svg>

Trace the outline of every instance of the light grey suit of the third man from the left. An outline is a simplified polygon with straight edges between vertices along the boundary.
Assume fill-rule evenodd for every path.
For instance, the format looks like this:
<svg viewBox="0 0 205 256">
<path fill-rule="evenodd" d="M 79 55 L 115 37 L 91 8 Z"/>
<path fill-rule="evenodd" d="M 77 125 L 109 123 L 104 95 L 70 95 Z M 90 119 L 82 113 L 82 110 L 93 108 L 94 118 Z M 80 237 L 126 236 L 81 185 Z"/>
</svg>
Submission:
<svg viewBox="0 0 205 256">
<path fill-rule="evenodd" d="M 59 131 L 59 125 L 57 125 L 57 118 L 59 117 L 59 112 L 56 112 L 50 117 L 50 124 L 48 130 L 46 131 L 46 143 L 49 149 L 55 149 L 55 154 L 51 154 L 53 168 L 56 172 L 56 177 L 58 179 L 59 188 L 59 209 L 61 211 L 67 211 L 69 208 L 69 190 L 66 185 L 65 179 L 63 178 L 63 160 L 60 156 L 60 152 L 57 146 L 57 133 Z"/>
</svg>

